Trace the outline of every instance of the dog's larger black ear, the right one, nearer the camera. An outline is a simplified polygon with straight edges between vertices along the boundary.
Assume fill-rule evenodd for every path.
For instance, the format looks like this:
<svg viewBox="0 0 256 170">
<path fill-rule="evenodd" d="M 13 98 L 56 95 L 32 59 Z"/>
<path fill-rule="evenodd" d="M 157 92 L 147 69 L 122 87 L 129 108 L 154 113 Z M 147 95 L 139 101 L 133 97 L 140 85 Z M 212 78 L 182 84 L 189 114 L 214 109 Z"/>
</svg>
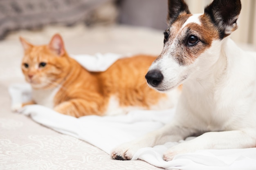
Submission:
<svg viewBox="0 0 256 170">
<path fill-rule="evenodd" d="M 220 30 L 220 38 L 225 38 L 235 31 L 238 15 L 241 11 L 240 0 L 213 0 L 204 8 L 204 13 L 211 17 L 211 20 Z"/>
</svg>

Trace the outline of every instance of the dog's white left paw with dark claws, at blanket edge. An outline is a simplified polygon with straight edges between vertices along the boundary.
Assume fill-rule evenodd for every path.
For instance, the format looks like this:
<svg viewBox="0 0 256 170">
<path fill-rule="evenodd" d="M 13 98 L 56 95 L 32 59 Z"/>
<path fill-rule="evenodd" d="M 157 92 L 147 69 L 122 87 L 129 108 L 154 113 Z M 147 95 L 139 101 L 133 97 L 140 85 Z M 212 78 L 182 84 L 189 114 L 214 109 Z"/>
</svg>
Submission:
<svg viewBox="0 0 256 170">
<path fill-rule="evenodd" d="M 136 147 L 136 145 L 133 144 L 121 144 L 114 148 L 111 152 L 112 159 L 117 160 L 131 160 L 135 152 L 137 152 L 139 148 Z"/>
</svg>

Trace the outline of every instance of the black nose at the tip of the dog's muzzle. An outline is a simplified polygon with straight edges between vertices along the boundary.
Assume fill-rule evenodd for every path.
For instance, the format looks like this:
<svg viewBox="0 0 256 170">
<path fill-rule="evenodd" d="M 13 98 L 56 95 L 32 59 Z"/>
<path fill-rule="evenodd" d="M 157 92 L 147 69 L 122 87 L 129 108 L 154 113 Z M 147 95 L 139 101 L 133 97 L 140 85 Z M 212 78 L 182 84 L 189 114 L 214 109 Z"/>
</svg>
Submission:
<svg viewBox="0 0 256 170">
<path fill-rule="evenodd" d="M 148 71 L 145 78 L 148 84 L 150 84 L 153 87 L 156 87 L 162 82 L 162 80 L 164 79 L 164 76 L 159 70 L 151 70 L 151 71 Z"/>
</svg>

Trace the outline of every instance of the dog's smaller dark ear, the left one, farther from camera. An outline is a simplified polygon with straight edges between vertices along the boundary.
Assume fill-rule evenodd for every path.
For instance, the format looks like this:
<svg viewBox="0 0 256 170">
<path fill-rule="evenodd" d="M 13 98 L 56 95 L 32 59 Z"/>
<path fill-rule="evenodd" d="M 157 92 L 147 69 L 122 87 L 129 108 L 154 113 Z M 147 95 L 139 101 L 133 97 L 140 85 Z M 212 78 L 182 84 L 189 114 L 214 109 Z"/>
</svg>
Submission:
<svg viewBox="0 0 256 170">
<path fill-rule="evenodd" d="M 171 25 L 182 12 L 190 13 L 184 0 L 168 0 L 167 24 Z"/>
</svg>

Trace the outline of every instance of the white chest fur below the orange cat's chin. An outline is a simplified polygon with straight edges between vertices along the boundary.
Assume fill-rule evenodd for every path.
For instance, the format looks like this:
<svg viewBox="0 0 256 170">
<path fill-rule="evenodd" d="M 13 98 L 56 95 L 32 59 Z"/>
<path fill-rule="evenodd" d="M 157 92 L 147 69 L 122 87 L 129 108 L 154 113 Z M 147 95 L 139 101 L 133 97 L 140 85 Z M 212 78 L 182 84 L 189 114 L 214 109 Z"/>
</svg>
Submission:
<svg viewBox="0 0 256 170">
<path fill-rule="evenodd" d="M 54 97 L 61 86 L 46 90 L 32 90 L 32 99 L 36 104 L 40 104 L 49 108 L 54 108 Z"/>
</svg>

